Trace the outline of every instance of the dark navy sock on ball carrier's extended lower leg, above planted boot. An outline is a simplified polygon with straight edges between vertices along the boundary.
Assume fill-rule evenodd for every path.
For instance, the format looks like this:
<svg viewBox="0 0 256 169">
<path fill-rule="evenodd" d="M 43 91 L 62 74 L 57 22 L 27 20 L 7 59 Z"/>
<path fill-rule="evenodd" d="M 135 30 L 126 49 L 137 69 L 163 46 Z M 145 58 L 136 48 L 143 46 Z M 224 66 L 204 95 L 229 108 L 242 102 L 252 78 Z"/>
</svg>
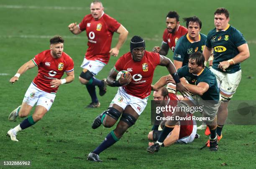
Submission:
<svg viewBox="0 0 256 169">
<path fill-rule="evenodd" d="M 97 146 L 95 150 L 92 151 L 94 154 L 100 154 L 105 149 L 108 149 L 108 147 L 115 144 L 119 139 L 115 136 L 114 131 L 111 131 L 106 138 L 102 141 L 102 143 Z"/>
</svg>

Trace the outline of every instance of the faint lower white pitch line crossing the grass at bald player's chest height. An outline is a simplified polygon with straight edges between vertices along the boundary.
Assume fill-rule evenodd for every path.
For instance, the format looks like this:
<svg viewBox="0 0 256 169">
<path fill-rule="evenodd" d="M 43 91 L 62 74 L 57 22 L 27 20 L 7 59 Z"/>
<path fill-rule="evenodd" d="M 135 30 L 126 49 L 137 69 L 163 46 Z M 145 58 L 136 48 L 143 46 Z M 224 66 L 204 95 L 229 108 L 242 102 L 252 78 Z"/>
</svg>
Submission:
<svg viewBox="0 0 256 169">
<path fill-rule="evenodd" d="M 0 35 L 0 38 L 38 38 L 38 39 L 49 39 L 52 38 L 54 35 Z M 63 38 L 67 39 L 84 39 L 86 38 L 85 35 L 73 35 L 73 36 L 63 36 Z M 127 39 L 131 39 L 132 37 L 128 37 Z M 114 38 L 115 40 L 118 40 L 118 38 Z M 144 40 L 149 41 L 159 41 L 161 42 L 162 38 L 143 38 Z M 256 44 L 256 40 L 247 40 L 249 44 Z"/>
</svg>

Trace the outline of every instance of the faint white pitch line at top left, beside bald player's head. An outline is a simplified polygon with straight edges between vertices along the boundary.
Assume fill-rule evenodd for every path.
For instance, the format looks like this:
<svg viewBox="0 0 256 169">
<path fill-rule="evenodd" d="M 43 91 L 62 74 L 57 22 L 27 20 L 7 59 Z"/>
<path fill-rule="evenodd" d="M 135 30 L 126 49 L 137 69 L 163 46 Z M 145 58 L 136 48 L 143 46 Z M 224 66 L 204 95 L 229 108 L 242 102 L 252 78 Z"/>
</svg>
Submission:
<svg viewBox="0 0 256 169">
<path fill-rule="evenodd" d="M 22 6 L 22 5 L 0 5 L 0 8 L 8 9 L 47 9 L 47 10 L 89 10 L 89 7 L 61 7 L 61 6 Z"/>
</svg>

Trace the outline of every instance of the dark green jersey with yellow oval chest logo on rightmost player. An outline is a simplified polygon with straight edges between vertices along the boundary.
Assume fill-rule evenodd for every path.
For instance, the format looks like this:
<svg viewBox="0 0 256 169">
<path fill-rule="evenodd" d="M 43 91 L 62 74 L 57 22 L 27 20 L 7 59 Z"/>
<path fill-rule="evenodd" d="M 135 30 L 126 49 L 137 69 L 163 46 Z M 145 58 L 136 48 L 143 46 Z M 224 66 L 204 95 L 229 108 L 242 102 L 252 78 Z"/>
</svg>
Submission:
<svg viewBox="0 0 256 169">
<path fill-rule="evenodd" d="M 230 65 L 226 71 L 218 68 L 220 62 L 228 61 L 238 55 L 238 46 L 247 43 L 243 34 L 231 25 L 225 30 L 217 31 L 216 28 L 211 30 L 207 35 L 205 45 L 213 48 L 213 66 L 217 71 L 224 73 L 235 73 L 241 69 L 240 63 Z"/>
</svg>

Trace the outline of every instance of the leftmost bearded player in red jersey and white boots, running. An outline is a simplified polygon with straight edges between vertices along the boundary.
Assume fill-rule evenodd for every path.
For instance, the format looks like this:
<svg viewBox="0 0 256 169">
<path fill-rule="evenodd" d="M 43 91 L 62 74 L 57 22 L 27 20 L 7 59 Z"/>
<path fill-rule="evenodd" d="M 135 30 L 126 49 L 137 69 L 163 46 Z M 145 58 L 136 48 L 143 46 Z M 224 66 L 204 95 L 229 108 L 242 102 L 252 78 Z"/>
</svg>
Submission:
<svg viewBox="0 0 256 169">
<path fill-rule="evenodd" d="M 7 136 L 10 136 L 12 141 L 18 141 L 16 139 L 18 131 L 32 126 L 43 118 L 51 108 L 56 91 L 61 84 L 70 83 L 74 80 L 74 62 L 67 53 L 63 52 L 63 43 L 64 40 L 60 36 L 51 38 L 50 50 L 37 54 L 32 60 L 21 66 L 15 76 L 10 79 L 10 83 L 15 83 L 19 80 L 20 75 L 28 69 L 38 67 L 38 74 L 28 87 L 21 106 L 10 113 L 9 120 L 14 121 L 17 116 L 28 116 L 35 103 L 37 103 L 35 112 L 18 126 L 8 131 Z M 66 72 L 67 77 L 61 79 L 64 72 Z"/>
</svg>

